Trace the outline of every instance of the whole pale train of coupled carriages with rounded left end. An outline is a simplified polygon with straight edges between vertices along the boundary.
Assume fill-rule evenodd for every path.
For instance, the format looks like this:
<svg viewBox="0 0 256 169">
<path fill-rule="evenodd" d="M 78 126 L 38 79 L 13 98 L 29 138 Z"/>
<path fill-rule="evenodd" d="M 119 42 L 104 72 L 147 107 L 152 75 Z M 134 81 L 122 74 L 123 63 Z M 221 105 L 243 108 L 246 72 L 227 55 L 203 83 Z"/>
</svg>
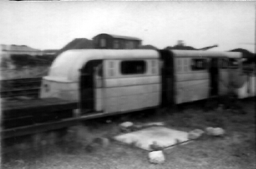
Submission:
<svg viewBox="0 0 256 169">
<path fill-rule="evenodd" d="M 77 101 L 85 114 L 122 113 L 228 92 L 251 96 L 247 79 L 238 52 L 79 49 L 57 57 L 41 97 Z"/>
</svg>

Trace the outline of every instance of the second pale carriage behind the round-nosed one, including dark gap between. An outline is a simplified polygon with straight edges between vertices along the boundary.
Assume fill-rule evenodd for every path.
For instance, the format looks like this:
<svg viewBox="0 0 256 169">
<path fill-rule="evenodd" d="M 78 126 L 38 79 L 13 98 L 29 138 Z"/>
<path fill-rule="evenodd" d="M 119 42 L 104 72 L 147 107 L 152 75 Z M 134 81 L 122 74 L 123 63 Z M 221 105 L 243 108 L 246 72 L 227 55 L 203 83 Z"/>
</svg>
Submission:
<svg viewBox="0 0 256 169">
<path fill-rule="evenodd" d="M 235 61 L 238 63 L 241 58 L 238 52 L 189 50 L 160 52 L 163 61 L 163 103 L 168 105 L 227 94 L 230 83 L 233 82 L 231 75 L 236 77 L 236 80 L 240 77 L 238 74 L 240 66 L 234 65 Z M 240 80 L 240 83 L 244 81 Z M 233 83 L 238 87 L 238 82 Z"/>
</svg>

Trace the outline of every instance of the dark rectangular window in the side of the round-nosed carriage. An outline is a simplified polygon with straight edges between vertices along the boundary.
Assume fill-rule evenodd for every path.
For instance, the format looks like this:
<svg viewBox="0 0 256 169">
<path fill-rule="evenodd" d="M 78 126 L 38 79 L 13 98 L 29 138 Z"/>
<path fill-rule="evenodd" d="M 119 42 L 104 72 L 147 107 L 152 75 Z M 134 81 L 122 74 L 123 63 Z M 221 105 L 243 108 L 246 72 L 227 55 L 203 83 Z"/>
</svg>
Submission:
<svg viewBox="0 0 256 169">
<path fill-rule="evenodd" d="M 146 73 L 146 62 L 145 61 L 122 61 L 121 73 L 123 75 Z"/>
</svg>

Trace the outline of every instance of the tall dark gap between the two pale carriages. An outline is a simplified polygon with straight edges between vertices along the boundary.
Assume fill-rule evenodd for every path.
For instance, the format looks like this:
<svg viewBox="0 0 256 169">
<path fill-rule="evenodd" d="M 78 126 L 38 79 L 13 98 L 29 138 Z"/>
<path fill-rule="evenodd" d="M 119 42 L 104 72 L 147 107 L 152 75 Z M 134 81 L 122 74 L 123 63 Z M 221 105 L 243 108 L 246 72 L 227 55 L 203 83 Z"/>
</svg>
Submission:
<svg viewBox="0 0 256 169">
<path fill-rule="evenodd" d="M 162 106 L 174 104 L 173 55 L 168 50 L 161 50 Z"/>
</svg>

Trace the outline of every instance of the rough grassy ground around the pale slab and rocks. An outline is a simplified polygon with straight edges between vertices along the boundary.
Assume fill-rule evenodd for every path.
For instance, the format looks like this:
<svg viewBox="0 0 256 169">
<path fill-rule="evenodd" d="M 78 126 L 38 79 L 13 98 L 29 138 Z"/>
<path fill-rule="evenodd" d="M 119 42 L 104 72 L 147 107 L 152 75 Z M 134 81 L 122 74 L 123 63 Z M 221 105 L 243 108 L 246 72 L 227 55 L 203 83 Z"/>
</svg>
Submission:
<svg viewBox="0 0 256 169">
<path fill-rule="evenodd" d="M 255 102 L 232 102 L 233 106 L 182 105 L 178 111 L 161 109 L 90 120 L 70 127 L 62 142 L 17 149 L 2 154 L 1 168 L 256 168 Z M 91 146 L 95 137 L 120 133 L 123 121 L 165 122 L 167 127 L 190 131 L 196 128 L 223 127 L 224 137 L 209 137 L 165 150 L 165 163 L 149 163 L 148 151 L 110 140 L 106 147 Z M 2 150 L 4 147 L 2 147 Z"/>
</svg>

